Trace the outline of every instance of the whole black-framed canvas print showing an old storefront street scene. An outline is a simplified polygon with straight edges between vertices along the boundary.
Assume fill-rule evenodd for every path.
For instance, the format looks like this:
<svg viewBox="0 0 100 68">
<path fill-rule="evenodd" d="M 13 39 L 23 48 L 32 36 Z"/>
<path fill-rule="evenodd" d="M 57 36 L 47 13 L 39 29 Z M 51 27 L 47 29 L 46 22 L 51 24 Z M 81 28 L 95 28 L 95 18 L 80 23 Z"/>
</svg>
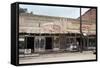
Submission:
<svg viewBox="0 0 100 68">
<path fill-rule="evenodd" d="M 11 64 L 97 61 L 97 7 L 11 4 Z"/>
</svg>

